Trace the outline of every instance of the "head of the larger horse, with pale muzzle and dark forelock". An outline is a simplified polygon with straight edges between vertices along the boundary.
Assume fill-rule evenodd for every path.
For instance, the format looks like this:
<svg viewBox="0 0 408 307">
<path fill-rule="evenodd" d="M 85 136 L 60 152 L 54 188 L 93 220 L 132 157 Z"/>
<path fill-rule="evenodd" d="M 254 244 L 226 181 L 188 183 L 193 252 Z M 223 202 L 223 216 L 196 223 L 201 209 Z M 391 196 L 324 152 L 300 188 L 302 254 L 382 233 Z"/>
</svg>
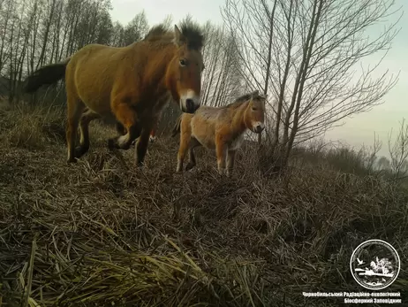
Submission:
<svg viewBox="0 0 408 307">
<path fill-rule="evenodd" d="M 172 95 L 181 111 L 194 113 L 200 107 L 204 36 L 194 25 L 183 24 L 181 31 L 175 26 L 174 32 L 177 51 L 170 65 Z"/>
</svg>

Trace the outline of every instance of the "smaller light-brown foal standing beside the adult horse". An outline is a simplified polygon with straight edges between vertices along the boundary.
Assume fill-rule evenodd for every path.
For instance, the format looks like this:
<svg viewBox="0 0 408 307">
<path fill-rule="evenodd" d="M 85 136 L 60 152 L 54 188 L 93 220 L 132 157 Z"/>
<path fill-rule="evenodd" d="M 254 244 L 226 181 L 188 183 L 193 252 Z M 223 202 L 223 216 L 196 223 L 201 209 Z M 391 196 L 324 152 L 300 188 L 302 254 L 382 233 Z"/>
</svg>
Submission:
<svg viewBox="0 0 408 307">
<path fill-rule="evenodd" d="M 180 133 L 176 172 L 182 172 L 187 150 L 190 161 L 185 171 L 191 170 L 196 165 L 193 149 L 204 146 L 215 149 L 218 172 L 223 174 L 226 168 L 226 175 L 230 176 L 236 150 L 244 140 L 246 129 L 260 134 L 265 127 L 265 101 L 266 96 L 261 96 L 257 90 L 220 108 L 202 105 L 194 114 L 182 114 L 172 133 L 172 136 Z"/>
</svg>

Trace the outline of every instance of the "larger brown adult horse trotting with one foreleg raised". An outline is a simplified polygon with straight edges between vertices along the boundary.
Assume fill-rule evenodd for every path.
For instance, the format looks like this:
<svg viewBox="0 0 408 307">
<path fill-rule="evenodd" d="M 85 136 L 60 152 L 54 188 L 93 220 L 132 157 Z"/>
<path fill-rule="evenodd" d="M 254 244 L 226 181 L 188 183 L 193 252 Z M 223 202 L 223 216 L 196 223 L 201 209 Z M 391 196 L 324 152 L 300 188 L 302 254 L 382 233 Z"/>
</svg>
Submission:
<svg viewBox="0 0 408 307">
<path fill-rule="evenodd" d="M 171 98 L 186 113 L 199 108 L 204 35 L 193 22 L 180 26 L 174 32 L 162 25 L 153 27 L 144 40 L 122 48 L 89 44 L 27 77 L 27 93 L 65 79 L 68 163 L 89 150 L 88 126 L 93 119 L 114 116 L 125 127 L 126 134 L 109 140 L 110 148 L 127 150 L 139 137 L 135 152 L 140 166 L 150 131 Z"/>
</svg>

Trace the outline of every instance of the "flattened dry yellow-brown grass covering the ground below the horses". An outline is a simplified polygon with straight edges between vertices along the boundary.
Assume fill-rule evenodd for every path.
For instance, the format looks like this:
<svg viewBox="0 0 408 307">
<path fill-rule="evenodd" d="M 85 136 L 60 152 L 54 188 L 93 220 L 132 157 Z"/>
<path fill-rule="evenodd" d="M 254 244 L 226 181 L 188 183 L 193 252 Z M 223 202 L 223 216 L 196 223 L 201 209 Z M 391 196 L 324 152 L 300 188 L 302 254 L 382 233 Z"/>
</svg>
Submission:
<svg viewBox="0 0 408 307">
<path fill-rule="evenodd" d="M 90 152 L 66 165 L 53 108 L 3 109 L 0 131 L 5 306 L 336 306 L 301 292 L 361 290 L 351 251 L 372 238 L 401 257 L 388 290 L 408 288 L 408 194 L 395 184 L 323 167 L 265 178 L 244 150 L 232 180 L 206 150 L 178 175 L 166 136 L 140 171 L 97 123 Z"/>
</svg>

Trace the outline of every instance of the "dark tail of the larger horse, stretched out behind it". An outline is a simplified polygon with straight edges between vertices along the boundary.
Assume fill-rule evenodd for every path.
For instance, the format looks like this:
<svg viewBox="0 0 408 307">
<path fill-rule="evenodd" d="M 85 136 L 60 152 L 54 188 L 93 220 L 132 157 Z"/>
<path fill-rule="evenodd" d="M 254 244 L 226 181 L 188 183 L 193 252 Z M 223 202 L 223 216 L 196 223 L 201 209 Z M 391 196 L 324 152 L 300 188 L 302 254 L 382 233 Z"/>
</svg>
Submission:
<svg viewBox="0 0 408 307">
<path fill-rule="evenodd" d="M 65 58 L 64 61 L 42 66 L 34 73 L 31 73 L 24 81 L 24 92 L 33 93 L 42 85 L 50 85 L 61 80 L 65 76 L 65 69 L 71 57 Z"/>
</svg>

